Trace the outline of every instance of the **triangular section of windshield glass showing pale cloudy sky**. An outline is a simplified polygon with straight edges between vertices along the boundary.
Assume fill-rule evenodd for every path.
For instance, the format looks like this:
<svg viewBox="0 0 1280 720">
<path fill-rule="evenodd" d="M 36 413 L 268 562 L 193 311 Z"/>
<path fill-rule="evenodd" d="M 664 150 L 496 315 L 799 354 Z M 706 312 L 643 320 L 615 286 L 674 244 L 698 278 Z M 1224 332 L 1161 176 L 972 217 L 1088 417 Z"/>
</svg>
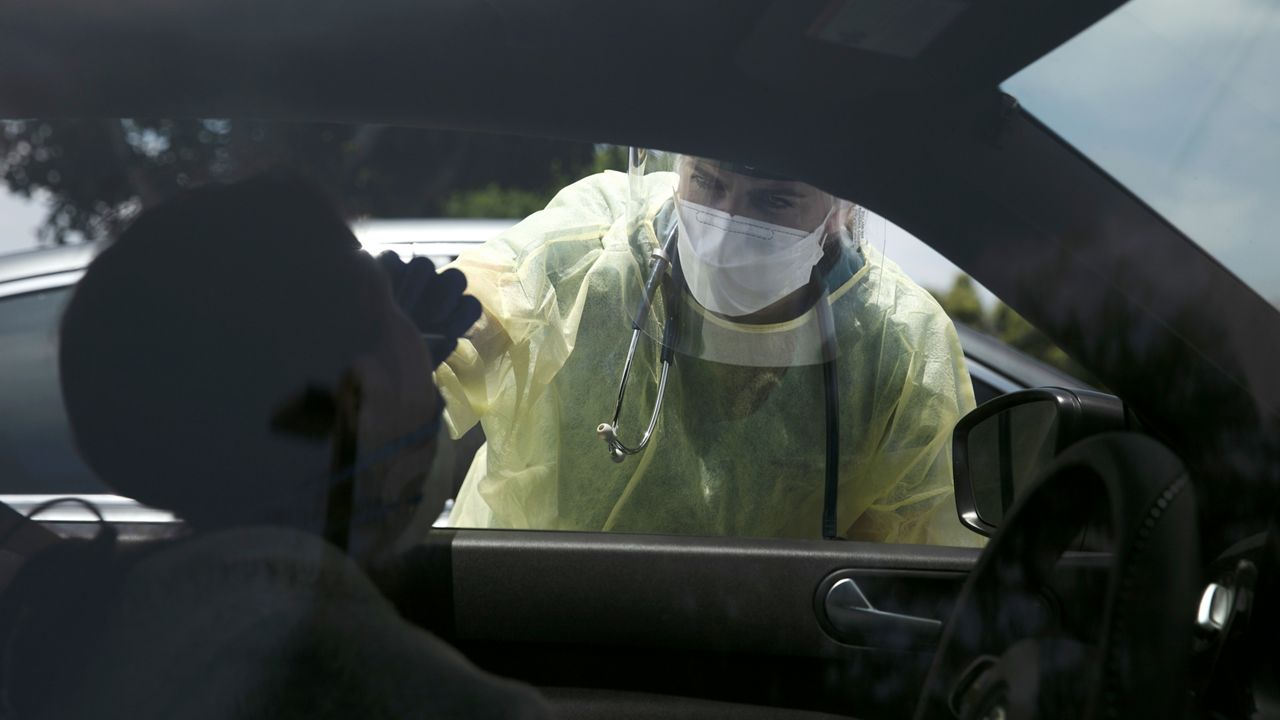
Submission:
<svg viewBox="0 0 1280 720">
<path fill-rule="evenodd" d="M 1280 4 L 1133 0 L 1004 83 L 1280 306 Z"/>
</svg>

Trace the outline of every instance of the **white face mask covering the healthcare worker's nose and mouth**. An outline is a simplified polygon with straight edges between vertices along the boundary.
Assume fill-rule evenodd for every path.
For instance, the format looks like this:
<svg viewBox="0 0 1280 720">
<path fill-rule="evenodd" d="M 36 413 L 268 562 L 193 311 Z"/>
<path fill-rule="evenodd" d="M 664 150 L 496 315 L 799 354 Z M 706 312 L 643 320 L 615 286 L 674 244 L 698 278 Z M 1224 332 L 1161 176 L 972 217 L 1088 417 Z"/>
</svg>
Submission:
<svg viewBox="0 0 1280 720">
<path fill-rule="evenodd" d="M 750 315 L 804 287 L 822 259 L 827 227 L 823 219 L 812 232 L 797 231 L 678 199 L 676 223 L 689 291 L 728 316 Z"/>
</svg>

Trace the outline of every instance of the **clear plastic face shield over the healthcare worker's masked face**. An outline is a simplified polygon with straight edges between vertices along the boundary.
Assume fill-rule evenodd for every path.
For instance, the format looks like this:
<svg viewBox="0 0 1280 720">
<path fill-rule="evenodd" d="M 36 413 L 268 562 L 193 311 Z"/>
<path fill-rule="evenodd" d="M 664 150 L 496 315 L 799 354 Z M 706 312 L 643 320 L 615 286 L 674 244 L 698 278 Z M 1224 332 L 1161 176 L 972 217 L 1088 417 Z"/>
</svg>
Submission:
<svg viewBox="0 0 1280 720">
<path fill-rule="evenodd" d="M 849 343 L 831 304 L 865 266 L 856 206 L 758 168 L 640 149 L 627 179 L 644 272 L 625 286 L 631 345 L 613 419 L 596 428 L 614 460 L 649 442 L 673 366 L 686 384 L 765 388 L 762 401 L 788 369 L 833 373 Z M 627 445 L 618 419 L 636 357 L 658 384 L 648 428 L 632 427 Z"/>
</svg>

